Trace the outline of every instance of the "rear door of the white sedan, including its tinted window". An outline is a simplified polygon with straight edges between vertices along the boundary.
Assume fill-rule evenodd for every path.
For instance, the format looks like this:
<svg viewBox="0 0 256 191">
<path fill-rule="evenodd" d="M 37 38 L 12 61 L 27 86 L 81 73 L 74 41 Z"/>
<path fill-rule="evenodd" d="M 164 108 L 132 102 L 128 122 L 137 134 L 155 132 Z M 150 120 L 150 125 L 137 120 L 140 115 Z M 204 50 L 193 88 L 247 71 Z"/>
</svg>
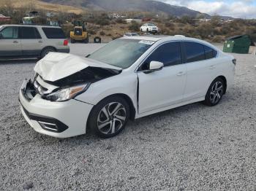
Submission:
<svg viewBox="0 0 256 191">
<path fill-rule="evenodd" d="M 197 42 L 183 42 L 187 65 L 184 101 L 204 97 L 214 80 L 217 51 Z"/>
</svg>

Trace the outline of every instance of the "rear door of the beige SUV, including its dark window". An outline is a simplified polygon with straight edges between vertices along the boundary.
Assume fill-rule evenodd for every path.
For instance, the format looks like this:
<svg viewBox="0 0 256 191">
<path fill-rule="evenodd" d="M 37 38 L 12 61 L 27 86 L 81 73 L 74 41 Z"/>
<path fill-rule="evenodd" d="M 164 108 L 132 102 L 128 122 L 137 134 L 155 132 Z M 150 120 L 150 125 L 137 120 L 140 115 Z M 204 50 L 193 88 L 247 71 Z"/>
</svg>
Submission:
<svg viewBox="0 0 256 191">
<path fill-rule="evenodd" d="M 42 37 L 36 27 L 20 27 L 23 56 L 39 56 L 42 50 Z"/>
</svg>

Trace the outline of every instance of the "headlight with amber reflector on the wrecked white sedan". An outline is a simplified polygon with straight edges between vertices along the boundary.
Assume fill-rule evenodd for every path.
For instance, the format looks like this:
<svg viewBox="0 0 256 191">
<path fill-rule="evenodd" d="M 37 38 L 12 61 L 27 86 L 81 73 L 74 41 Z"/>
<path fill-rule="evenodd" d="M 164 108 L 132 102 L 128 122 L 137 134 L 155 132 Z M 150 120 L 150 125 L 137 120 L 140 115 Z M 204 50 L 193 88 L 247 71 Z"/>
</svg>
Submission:
<svg viewBox="0 0 256 191">
<path fill-rule="evenodd" d="M 69 87 L 63 90 L 59 90 L 55 93 L 50 93 L 49 95 L 46 95 L 43 98 L 49 101 L 67 101 L 71 98 L 74 98 L 78 94 L 85 92 L 88 89 L 89 85 L 90 84 Z"/>
</svg>

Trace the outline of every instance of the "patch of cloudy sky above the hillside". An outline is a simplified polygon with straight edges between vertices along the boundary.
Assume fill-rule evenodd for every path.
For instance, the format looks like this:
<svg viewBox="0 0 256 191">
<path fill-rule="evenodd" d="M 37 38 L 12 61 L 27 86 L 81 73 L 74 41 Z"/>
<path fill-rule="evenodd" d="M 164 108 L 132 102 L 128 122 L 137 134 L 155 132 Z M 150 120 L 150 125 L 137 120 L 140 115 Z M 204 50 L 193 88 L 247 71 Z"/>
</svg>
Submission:
<svg viewBox="0 0 256 191">
<path fill-rule="evenodd" d="M 256 0 L 159 0 L 209 15 L 256 18 Z"/>
</svg>

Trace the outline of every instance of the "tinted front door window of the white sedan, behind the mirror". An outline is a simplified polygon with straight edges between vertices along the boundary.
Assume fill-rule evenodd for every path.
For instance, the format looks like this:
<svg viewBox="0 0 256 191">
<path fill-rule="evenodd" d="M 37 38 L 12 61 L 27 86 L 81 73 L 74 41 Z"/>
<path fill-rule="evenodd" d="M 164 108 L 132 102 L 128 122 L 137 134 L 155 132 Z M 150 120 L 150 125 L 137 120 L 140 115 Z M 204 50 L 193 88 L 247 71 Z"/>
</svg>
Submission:
<svg viewBox="0 0 256 191">
<path fill-rule="evenodd" d="M 180 43 L 170 42 L 158 47 L 143 63 L 141 70 L 148 70 L 151 61 L 162 62 L 164 66 L 173 66 L 181 63 Z"/>
</svg>

